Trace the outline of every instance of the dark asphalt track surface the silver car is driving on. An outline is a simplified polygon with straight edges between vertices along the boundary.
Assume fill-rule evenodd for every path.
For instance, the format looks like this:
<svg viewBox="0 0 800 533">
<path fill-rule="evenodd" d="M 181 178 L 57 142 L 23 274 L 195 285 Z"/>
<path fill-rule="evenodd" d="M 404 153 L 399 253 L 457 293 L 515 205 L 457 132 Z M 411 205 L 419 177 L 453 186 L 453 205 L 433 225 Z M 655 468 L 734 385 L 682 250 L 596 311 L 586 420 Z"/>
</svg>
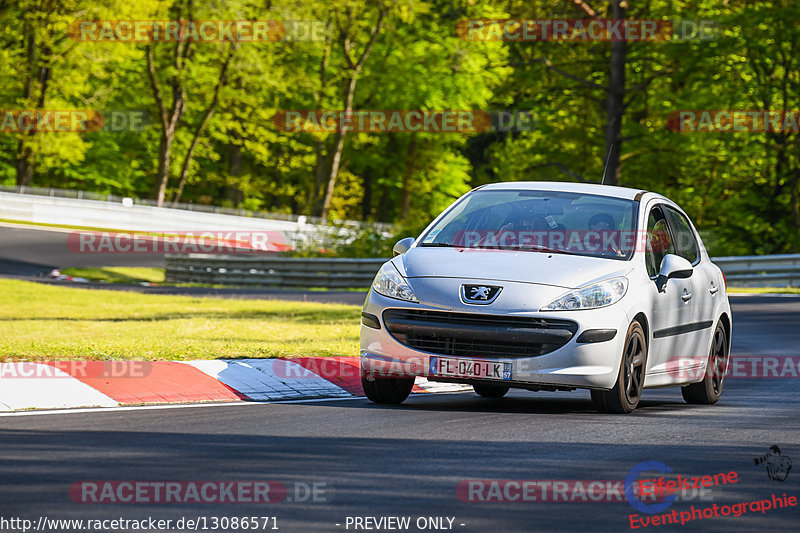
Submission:
<svg viewBox="0 0 800 533">
<path fill-rule="evenodd" d="M 739 297 L 733 306 L 734 354 L 797 354 L 800 298 Z M 638 463 L 659 461 L 684 476 L 738 474 L 735 484 L 690 491 L 665 512 L 800 496 L 800 467 L 772 481 L 753 460 L 778 445 L 800 462 L 798 383 L 729 380 L 715 406 L 689 406 L 678 389 L 649 390 L 628 416 L 593 412 L 586 392 L 512 391 L 502 400 L 415 395 L 399 407 L 356 399 L 0 417 L 0 516 L 205 517 L 208 527 L 215 516 L 276 516 L 281 531 L 307 532 L 354 531 L 346 520 L 357 516 L 407 516 L 408 531 L 418 531 L 417 518 L 430 516 L 454 518 L 452 528 L 464 532 L 624 531 L 638 513 L 625 501 L 469 502 L 456 487 L 623 480 Z M 294 483 L 322 483 L 326 492 L 316 502 L 258 505 L 74 503 L 69 487 L 84 480 L 266 480 L 290 493 Z M 657 529 L 796 531 L 799 520 L 793 507 Z"/>
</svg>

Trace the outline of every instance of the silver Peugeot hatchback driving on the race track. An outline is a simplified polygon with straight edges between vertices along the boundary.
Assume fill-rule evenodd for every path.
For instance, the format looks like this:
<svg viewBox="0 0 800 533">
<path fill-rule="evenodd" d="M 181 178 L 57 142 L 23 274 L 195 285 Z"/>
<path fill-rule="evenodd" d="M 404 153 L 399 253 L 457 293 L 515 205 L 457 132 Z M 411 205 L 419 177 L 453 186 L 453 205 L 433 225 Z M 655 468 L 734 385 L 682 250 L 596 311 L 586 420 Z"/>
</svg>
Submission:
<svg viewBox="0 0 800 533">
<path fill-rule="evenodd" d="M 362 383 L 401 403 L 416 376 L 591 390 L 628 413 L 647 387 L 712 404 L 731 340 L 726 283 L 686 214 L 650 192 L 515 182 L 478 187 L 395 245 L 361 314 Z"/>
</svg>

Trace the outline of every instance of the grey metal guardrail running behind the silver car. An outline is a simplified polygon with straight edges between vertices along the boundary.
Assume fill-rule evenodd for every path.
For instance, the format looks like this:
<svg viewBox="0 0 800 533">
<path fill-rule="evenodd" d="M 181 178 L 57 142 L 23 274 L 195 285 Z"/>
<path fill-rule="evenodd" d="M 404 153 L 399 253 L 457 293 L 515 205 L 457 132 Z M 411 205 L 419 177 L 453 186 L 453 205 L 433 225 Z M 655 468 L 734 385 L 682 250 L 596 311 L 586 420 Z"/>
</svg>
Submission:
<svg viewBox="0 0 800 533">
<path fill-rule="evenodd" d="M 168 255 L 166 280 L 222 285 L 366 288 L 387 259 Z M 731 287 L 798 287 L 800 254 L 712 258 Z"/>
</svg>

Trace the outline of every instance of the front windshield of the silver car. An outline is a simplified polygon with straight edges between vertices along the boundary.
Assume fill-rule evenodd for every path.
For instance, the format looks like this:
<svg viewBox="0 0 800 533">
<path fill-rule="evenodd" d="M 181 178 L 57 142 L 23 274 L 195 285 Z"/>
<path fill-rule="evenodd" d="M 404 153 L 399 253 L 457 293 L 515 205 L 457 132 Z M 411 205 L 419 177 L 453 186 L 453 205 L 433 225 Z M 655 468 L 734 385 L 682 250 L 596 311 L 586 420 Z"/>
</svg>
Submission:
<svg viewBox="0 0 800 533">
<path fill-rule="evenodd" d="M 629 259 L 636 202 L 561 191 L 478 190 L 462 198 L 420 246 L 514 249 Z"/>
</svg>

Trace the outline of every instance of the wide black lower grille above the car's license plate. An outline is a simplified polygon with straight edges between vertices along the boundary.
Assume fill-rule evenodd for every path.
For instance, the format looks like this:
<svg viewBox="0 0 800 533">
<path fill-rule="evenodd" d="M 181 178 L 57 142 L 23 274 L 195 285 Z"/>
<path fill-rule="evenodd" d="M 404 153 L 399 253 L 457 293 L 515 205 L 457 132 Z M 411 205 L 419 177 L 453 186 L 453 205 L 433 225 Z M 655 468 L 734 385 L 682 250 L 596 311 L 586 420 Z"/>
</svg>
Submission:
<svg viewBox="0 0 800 533">
<path fill-rule="evenodd" d="M 387 309 L 383 323 L 409 348 L 438 355 L 535 357 L 564 346 L 578 325 L 570 320 Z"/>
</svg>

